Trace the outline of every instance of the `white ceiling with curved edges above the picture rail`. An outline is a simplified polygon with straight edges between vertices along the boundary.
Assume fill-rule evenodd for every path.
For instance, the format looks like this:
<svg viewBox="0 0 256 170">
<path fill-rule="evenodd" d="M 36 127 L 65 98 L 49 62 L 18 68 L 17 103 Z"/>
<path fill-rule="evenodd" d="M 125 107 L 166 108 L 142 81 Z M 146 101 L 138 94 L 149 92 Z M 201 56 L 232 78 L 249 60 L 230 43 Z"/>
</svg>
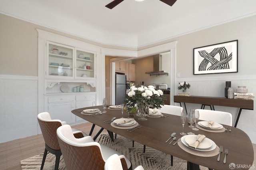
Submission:
<svg viewBox="0 0 256 170">
<path fill-rule="evenodd" d="M 142 47 L 256 14 L 256 0 L 0 0 L 0 13 L 107 45 Z"/>
</svg>

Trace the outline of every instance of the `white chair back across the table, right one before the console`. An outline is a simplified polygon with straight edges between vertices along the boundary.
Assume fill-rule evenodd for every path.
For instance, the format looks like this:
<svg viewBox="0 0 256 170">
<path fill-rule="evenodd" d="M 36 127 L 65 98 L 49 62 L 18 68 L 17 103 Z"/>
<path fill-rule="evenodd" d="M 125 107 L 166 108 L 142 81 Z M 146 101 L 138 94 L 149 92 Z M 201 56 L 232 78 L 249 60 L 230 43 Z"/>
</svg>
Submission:
<svg viewBox="0 0 256 170">
<path fill-rule="evenodd" d="M 228 112 L 196 109 L 199 112 L 199 119 L 202 121 L 214 121 L 222 125 L 232 126 L 232 115 Z"/>
</svg>

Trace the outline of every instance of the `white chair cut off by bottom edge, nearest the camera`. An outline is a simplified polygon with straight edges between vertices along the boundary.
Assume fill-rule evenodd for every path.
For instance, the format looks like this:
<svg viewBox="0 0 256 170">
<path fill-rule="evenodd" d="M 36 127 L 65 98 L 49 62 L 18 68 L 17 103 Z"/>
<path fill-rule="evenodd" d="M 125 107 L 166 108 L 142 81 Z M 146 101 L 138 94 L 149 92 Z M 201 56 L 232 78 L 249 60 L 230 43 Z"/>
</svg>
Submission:
<svg viewBox="0 0 256 170">
<path fill-rule="evenodd" d="M 120 156 L 117 154 L 111 155 L 104 165 L 104 170 L 123 170 Z M 137 166 L 134 170 L 144 170 L 144 168 L 140 165 Z"/>
</svg>

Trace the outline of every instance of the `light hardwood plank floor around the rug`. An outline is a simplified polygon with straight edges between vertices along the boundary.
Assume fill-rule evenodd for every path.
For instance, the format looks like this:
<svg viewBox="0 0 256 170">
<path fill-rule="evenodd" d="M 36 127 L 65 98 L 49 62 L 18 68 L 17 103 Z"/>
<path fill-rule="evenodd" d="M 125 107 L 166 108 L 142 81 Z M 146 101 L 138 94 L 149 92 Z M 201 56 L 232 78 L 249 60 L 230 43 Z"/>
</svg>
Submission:
<svg viewBox="0 0 256 170">
<path fill-rule="evenodd" d="M 90 133 L 92 123 L 83 123 L 75 125 L 86 134 Z M 100 127 L 95 126 L 92 136 L 94 136 Z M 254 166 L 256 166 L 256 144 L 254 147 Z M 12 140 L 0 144 L 0 170 L 21 170 L 20 160 L 35 156 L 44 152 L 44 138 L 42 134 Z M 252 170 L 255 170 L 253 168 Z"/>
</svg>

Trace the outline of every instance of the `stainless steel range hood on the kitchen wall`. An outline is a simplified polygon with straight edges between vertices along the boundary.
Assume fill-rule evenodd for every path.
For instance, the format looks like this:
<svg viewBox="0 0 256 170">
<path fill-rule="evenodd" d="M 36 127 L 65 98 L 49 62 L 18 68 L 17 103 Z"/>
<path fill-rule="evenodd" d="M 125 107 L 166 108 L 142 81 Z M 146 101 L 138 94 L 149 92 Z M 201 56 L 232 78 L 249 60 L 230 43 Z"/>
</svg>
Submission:
<svg viewBox="0 0 256 170">
<path fill-rule="evenodd" d="M 161 54 L 157 54 L 157 55 L 153 55 L 153 71 L 150 72 L 146 72 L 146 74 L 151 75 L 164 75 L 168 73 L 166 71 L 161 71 L 162 69 L 162 55 Z"/>
</svg>

